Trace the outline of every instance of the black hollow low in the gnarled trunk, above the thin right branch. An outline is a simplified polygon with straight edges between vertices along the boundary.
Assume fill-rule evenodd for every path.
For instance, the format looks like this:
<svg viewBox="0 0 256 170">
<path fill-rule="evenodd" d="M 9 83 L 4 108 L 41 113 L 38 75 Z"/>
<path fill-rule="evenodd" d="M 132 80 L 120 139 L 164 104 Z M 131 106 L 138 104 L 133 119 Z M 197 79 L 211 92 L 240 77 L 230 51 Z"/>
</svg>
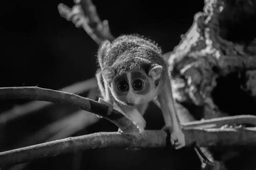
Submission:
<svg viewBox="0 0 256 170">
<path fill-rule="evenodd" d="M 238 73 L 219 77 L 217 86 L 212 91 L 213 102 L 228 115 L 255 115 L 254 98 L 250 93 L 241 89 L 245 83 L 243 77 Z"/>
</svg>

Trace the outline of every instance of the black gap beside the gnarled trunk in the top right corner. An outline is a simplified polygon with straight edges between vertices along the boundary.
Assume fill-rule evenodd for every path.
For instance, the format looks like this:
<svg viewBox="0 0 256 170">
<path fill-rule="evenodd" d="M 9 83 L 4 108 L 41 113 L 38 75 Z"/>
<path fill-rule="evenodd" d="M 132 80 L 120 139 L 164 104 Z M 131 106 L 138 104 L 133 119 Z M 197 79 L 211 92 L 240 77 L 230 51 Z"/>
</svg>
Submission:
<svg viewBox="0 0 256 170">
<path fill-rule="evenodd" d="M 226 0 L 219 15 L 220 37 L 249 45 L 256 38 L 256 1 Z"/>
</svg>

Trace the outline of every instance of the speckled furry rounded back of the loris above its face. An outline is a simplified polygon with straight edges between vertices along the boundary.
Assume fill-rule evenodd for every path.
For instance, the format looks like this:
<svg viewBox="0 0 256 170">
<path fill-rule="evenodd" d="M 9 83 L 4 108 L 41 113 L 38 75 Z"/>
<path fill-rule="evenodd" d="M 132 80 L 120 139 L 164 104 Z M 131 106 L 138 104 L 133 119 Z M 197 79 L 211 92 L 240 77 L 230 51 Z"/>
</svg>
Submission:
<svg viewBox="0 0 256 170">
<path fill-rule="evenodd" d="M 166 64 L 161 56 L 161 49 L 151 40 L 138 36 L 120 36 L 112 43 L 104 41 L 98 51 L 100 68 L 112 67 L 116 74 L 132 70 L 145 70 L 147 74 L 151 68 Z"/>
</svg>

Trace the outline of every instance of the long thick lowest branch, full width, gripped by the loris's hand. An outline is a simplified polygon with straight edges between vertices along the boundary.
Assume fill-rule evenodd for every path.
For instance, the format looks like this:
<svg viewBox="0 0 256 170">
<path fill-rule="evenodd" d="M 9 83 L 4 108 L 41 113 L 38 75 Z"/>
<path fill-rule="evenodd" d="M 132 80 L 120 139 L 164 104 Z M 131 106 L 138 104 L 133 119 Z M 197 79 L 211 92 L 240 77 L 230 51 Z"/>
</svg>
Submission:
<svg viewBox="0 0 256 170">
<path fill-rule="evenodd" d="M 186 146 L 195 141 L 199 146 L 256 146 L 256 128 L 245 129 L 185 129 Z M 124 134 L 99 132 L 70 137 L 48 143 L 18 148 L 0 153 L 0 166 L 20 164 L 59 154 L 104 147 L 166 147 L 170 136 L 161 130 L 145 130 L 144 133 Z"/>
</svg>

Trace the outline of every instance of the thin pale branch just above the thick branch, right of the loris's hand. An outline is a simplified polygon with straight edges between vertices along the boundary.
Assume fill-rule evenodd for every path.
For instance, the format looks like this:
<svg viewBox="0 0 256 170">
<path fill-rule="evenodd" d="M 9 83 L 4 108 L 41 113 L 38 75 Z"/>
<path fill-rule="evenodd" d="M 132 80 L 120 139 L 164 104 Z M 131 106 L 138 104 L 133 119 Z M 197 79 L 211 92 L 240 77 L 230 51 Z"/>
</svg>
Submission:
<svg viewBox="0 0 256 170">
<path fill-rule="evenodd" d="M 256 116 L 254 115 L 237 115 L 228 117 L 218 117 L 213 119 L 203 119 L 182 123 L 183 128 L 220 128 L 224 125 L 251 124 L 256 125 Z"/>
</svg>

